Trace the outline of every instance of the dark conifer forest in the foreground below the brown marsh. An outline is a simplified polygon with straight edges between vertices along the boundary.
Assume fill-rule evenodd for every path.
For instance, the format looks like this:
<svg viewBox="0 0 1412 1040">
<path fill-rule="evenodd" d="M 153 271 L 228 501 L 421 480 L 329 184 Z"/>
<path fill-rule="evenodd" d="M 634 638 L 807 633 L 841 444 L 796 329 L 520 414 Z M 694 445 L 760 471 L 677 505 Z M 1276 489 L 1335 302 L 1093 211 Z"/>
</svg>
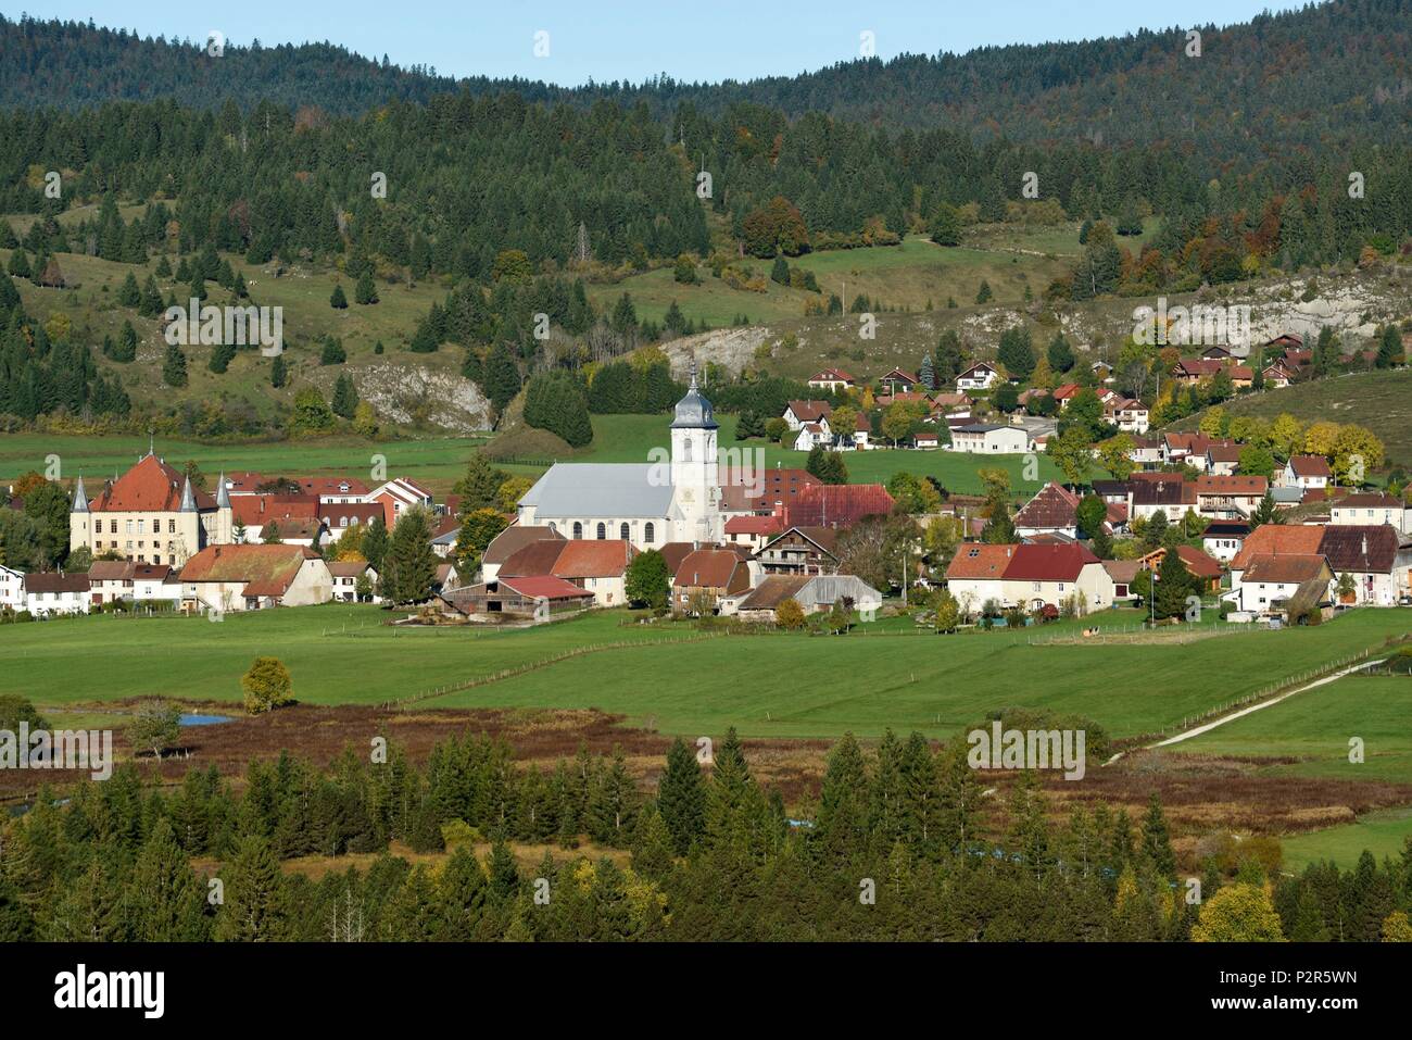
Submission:
<svg viewBox="0 0 1412 1040">
<path fill-rule="evenodd" d="M 328 772 L 281 756 L 175 790 L 123 764 L 41 791 L 0 855 L 0 941 L 1334 941 L 1406 940 L 1412 846 L 1377 863 L 1179 876 L 1162 805 L 1055 821 L 1035 774 L 983 798 L 964 745 L 888 733 L 829 753 L 791 821 L 727 733 L 710 769 L 676 740 L 655 798 L 621 753 L 517 767 L 452 738 Z M 233 783 L 239 780 L 237 784 Z M 604 853 L 573 849 L 580 835 Z M 388 852 L 390 842 L 407 849 Z M 448 842 L 450 848 L 448 848 Z M 532 868 L 510 842 L 558 846 Z M 479 849 L 479 851 L 477 851 Z M 381 853 L 312 880 L 295 856 Z M 1200 883 L 1200 903 L 1187 897 Z M 210 897 L 210 893 L 219 893 Z"/>
</svg>

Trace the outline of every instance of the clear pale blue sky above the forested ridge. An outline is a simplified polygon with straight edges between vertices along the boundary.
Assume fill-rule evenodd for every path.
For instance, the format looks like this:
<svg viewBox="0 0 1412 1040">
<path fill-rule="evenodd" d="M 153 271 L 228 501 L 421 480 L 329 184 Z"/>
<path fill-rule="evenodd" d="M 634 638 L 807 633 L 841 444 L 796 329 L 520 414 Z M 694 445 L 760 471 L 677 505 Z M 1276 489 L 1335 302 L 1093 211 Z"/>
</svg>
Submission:
<svg viewBox="0 0 1412 1040">
<path fill-rule="evenodd" d="M 871 31 L 878 57 L 963 52 L 974 47 L 1123 35 L 1138 28 L 1187 28 L 1244 21 L 1261 10 L 1296 7 L 1281 0 L 599 0 L 522 3 L 477 0 L 28 0 L 4 4 L 38 18 L 92 18 L 143 35 L 205 40 L 210 30 L 236 44 L 329 40 L 398 65 L 422 64 L 442 75 L 527 76 L 575 86 L 594 79 L 641 82 L 666 72 L 683 81 L 794 75 L 858 55 Z M 534 54 L 535 32 L 549 54 Z"/>
</svg>

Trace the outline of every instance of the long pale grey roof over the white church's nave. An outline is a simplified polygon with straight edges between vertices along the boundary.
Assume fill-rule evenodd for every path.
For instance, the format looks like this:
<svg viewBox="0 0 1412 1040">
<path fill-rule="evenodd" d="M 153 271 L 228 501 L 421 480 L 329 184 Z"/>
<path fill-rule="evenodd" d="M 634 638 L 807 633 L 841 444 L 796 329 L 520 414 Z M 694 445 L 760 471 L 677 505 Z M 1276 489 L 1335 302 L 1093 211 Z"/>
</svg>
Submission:
<svg viewBox="0 0 1412 1040">
<path fill-rule="evenodd" d="M 638 462 L 556 462 L 522 499 L 541 523 L 562 517 L 666 517 L 671 468 Z"/>
</svg>

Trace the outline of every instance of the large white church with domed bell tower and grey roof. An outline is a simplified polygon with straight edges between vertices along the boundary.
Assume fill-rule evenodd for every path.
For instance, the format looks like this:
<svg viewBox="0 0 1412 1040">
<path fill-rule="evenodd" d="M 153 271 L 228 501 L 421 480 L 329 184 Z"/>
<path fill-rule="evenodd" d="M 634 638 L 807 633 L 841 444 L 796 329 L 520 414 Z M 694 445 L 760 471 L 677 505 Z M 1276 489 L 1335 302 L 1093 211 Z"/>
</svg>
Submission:
<svg viewBox="0 0 1412 1040">
<path fill-rule="evenodd" d="M 556 462 L 520 500 L 518 521 L 565 538 L 620 538 L 640 550 L 719 543 L 724 533 L 719 425 L 696 384 L 676 403 L 669 456 L 645 463 Z"/>
</svg>

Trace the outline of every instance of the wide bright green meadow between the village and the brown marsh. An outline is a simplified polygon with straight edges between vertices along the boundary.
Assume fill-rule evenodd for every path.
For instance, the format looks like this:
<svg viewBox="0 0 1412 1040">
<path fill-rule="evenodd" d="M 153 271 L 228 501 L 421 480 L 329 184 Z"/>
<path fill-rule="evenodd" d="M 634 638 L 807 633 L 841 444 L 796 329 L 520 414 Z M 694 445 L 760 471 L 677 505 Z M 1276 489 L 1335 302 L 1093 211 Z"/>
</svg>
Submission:
<svg viewBox="0 0 1412 1040">
<path fill-rule="evenodd" d="M 1131 612 L 1130 612 L 1131 613 Z M 949 736 L 1010 705 L 1075 712 L 1114 736 L 1171 731 L 1182 719 L 1254 692 L 1408 627 L 1399 610 L 1357 610 L 1316 629 L 1209 636 L 1178 643 L 1031 646 L 1024 634 L 938 637 L 887 632 L 846 637 L 695 637 L 686 626 L 621 626 L 592 613 L 525 632 L 390 629 L 376 608 L 323 606 L 201 619 L 93 616 L 3 630 L 7 692 L 37 704 L 93 705 L 160 694 L 240 698 L 260 654 L 280 656 L 295 695 L 312 704 L 380 704 L 631 640 L 424 707 L 599 708 L 666 733 L 761 738 L 877 736 L 887 728 Z M 1108 616 L 1104 623 L 1132 620 Z M 1058 632 L 1046 629 L 1045 634 Z M 1230 661 L 1240 661 L 1231 668 Z M 1099 675 L 1125 677 L 1121 687 Z M 1036 678 L 1039 677 L 1039 678 Z"/>
</svg>

